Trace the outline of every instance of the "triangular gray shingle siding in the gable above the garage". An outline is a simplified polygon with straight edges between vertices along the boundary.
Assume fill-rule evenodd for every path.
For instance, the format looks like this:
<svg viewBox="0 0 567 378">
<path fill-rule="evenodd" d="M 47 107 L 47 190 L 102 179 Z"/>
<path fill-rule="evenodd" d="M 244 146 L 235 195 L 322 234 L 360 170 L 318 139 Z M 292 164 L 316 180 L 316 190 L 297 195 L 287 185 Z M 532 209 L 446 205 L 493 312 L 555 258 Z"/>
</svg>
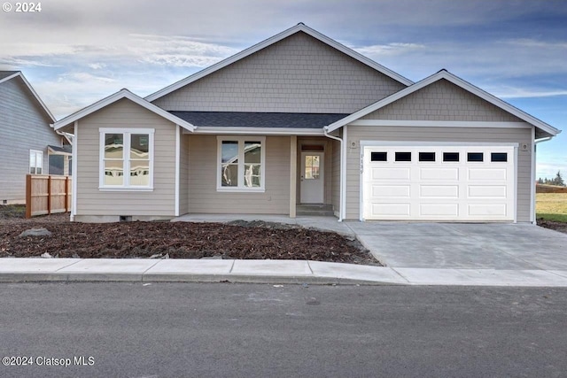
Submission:
<svg viewBox="0 0 567 378">
<path fill-rule="evenodd" d="M 509 112 L 441 79 L 371 112 L 361 120 L 455 120 L 522 122 Z"/>
</svg>

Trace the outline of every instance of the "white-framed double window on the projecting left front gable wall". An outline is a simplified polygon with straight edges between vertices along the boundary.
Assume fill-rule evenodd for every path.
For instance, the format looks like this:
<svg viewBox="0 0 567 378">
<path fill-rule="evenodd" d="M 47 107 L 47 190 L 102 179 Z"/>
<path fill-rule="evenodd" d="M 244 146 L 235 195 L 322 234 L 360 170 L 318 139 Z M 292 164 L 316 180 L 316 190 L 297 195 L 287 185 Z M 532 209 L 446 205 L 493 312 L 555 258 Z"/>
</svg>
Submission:
<svg viewBox="0 0 567 378">
<path fill-rule="evenodd" d="M 152 128 L 100 129 L 101 189 L 153 188 Z"/>
</svg>

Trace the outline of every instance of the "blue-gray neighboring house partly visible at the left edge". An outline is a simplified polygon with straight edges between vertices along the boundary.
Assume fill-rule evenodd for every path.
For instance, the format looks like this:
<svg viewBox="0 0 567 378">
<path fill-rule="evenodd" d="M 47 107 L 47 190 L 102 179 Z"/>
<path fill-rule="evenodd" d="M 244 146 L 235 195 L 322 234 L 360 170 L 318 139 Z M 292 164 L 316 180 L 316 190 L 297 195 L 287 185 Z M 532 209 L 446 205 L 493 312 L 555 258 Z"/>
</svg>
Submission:
<svg viewBox="0 0 567 378">
<path fill-rule="evenodd" d="M 0 71 L 0 204 L 25 203 L 26 174 L 69 174 L 71 148 L 19 71 Z"/>
</svg>

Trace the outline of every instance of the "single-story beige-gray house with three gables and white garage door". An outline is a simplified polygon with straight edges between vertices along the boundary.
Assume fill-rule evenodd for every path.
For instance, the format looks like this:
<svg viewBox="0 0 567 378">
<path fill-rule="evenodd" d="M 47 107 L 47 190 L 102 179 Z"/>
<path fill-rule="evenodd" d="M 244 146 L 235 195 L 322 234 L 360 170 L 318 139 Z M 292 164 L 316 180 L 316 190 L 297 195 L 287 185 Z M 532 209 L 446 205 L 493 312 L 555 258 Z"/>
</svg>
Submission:
<svg viewBox="0 0 567 378">
<path fill-rule="evenodd" d="M 59 120 L 72 219 L 185 213 L 534 221 L 535 143 L 560 131 L 445 70 L 416 83 L 299 24 L 141 98 Z"/>
</svg>

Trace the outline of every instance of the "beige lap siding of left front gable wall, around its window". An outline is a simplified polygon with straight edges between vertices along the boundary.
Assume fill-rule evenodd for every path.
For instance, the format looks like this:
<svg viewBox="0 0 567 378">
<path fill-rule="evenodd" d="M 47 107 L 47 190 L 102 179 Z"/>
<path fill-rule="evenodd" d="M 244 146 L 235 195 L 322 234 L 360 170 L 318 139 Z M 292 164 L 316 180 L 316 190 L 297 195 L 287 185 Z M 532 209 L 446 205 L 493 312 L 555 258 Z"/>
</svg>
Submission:
<svg viewBox="0 0 567 378">
<path fill-rule="evenodd" d="M 101 191 L 99 127 L 154 128 L 153 191 Z M 121 99 L 79 120 L 75 143 L 77 208 L 75 220 L 133 220 L 175 216 L 175 124 Z"/>
</svg>

